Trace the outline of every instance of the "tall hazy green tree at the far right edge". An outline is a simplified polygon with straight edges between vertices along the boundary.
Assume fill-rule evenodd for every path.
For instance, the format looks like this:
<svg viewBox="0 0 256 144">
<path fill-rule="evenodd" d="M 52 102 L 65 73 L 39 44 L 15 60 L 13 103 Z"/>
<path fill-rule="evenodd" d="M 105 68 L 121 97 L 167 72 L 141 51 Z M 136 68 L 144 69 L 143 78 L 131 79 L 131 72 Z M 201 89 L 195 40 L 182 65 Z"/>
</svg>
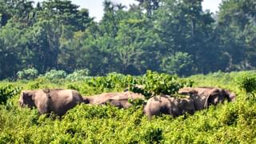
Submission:
<svg viewBox="0 0 256 144">
<path fill-rule="evenodd" d="M 256 65 L 256 2 L 223 1 L 218 13 L 218 38 L 230 65 L 226 70 L 247 70 Z"/>
</svg>

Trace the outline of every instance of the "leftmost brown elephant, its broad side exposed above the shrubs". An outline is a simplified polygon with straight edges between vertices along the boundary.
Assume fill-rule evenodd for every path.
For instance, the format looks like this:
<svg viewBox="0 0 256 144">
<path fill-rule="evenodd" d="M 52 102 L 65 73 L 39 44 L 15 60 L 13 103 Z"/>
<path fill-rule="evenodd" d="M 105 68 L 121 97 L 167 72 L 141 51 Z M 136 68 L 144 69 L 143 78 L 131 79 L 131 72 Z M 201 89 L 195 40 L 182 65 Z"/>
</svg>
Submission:
<svg viewBox="0 0 256 144">
<path fill-rule="evenodd" d="M 22 90 L 18 102 L 22 107 L 36 107 L 39 114 L 54 112 L 58 116 L 62 116 L 66 114 L 67 110 L 84 101 L 77 90 L 47 89 Z"/>
</svg>

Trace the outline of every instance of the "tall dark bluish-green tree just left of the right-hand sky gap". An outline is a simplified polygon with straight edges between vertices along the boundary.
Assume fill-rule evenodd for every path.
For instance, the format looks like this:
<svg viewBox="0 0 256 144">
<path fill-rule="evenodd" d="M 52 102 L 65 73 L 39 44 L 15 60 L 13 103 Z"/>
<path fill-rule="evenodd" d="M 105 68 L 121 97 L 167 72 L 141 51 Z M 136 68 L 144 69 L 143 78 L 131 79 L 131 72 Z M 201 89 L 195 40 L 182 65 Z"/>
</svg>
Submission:
<svg viewBox="0 0 256 144">
<path fill-rule="evenodd" d="M 178 51 L 189 54 L 194 61 L 193 73 L 215 70 L 218 49 L 214 47 L 214 19 L 202 11 L 202 1 L 165 0 L 155 14 L 154 28 L 165 44 L 166 55 Z"/>
</svg>

